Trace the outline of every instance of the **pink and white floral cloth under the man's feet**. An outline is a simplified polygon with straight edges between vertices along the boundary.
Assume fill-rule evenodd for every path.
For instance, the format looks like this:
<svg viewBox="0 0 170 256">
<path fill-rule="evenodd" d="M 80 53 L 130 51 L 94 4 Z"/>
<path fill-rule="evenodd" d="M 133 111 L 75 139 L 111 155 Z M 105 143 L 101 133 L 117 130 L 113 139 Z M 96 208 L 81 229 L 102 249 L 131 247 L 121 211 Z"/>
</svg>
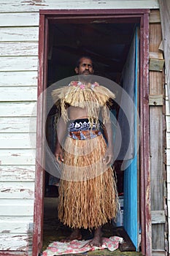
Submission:
<svg viewBox="0 0 170 256">
<path fill-rule="evenodd" d="M 43 252 L 43 256 L 53 256 L 53 255 L 66 255 L 72 253 L 83 253 L 88 251 L 94 251 L 95 249 L 109 249 L 113 252 L 115 249 L 118 249 L 119 244 L 123 243 L 123 238 L 118 236 L 111 236 L 110 238 L 103 238 L 103 244 L 101 247 L 93 246 L 91 247 L 88 243 L 90 240 L 73 240 L 66 243 L 61 243 L 55 241 L 47 247 Z"/>
</svg>

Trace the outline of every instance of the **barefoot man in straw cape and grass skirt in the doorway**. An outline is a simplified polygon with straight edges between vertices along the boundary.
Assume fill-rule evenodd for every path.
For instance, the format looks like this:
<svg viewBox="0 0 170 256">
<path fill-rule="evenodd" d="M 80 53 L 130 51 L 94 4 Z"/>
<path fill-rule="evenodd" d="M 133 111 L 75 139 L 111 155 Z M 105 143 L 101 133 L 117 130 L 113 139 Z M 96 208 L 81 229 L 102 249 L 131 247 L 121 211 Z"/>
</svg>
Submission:
<svg viewBox="0 0 170 256">
<path fill-rule="evenodd" d="M 89 57 L 82 56 L 74 70 L 77 81 L 52 93 L 54 102 L 59 100 L 61 107 L 55 148 L 62 168 L 58 218 L 72 227 L 72 234 L 63 241 L 81 240 L 84 228 L 94 232 L 90 246 L 101 246 L 101 227 L 117 214 L 108 109 L 109 99 L 115 94 L 91 82 L 95 76 Z"/>
</svg>

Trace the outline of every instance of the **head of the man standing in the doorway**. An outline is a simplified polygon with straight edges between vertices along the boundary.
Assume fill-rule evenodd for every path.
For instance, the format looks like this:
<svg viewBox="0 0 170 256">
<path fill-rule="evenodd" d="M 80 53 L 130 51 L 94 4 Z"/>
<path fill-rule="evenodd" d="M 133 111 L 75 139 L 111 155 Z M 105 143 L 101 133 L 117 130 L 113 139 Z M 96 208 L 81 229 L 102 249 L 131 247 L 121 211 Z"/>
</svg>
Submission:
<svg viewBox="0 0 170 256">
<path fill-rule="evenodd" d="M 79 67 L 75 68 L 75 72 L 78 75 L 93 75 L 93 63 L 90 59 L 80 59 Z"/>
</svg>

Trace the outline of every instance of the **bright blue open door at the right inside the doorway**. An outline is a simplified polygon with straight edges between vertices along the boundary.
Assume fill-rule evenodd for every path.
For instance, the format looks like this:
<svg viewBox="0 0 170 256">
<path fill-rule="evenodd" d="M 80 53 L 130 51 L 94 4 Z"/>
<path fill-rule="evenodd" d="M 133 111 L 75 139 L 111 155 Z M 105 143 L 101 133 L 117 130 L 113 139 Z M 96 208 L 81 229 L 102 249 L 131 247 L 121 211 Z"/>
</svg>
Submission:
<svg viewBox="0 0 170 256">
<path fill-rule="evenodd" d="M 131 241 L 136 247 L 136 251 L 139 250 L 139 187 L 138 187 L 138 31 L 136 29 L 134 35 L 134 157 L 128 159 L 126 162 L 127 167 L 124 170 L 124 209 L 123 209 L 123 225 L 128 233 L 128 236 L 131 238 Z"/>
</svg>

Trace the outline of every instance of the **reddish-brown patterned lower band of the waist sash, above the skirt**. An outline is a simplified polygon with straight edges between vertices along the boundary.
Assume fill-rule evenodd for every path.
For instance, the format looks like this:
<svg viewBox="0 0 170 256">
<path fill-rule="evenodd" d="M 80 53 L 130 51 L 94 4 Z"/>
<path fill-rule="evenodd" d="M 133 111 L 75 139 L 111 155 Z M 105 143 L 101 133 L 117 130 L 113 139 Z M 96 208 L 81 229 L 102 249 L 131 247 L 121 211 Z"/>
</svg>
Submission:
<svg viewBox="0 0 170 256">
<path fill-rule="evenodd" d="M 97 130 L 88 130 L 88 131 L 77 131 L 69 132 L 68 136 L 74 140 L 89 140 L 96 138 L 101 135 L 101 131 Z"/>
</svg>

